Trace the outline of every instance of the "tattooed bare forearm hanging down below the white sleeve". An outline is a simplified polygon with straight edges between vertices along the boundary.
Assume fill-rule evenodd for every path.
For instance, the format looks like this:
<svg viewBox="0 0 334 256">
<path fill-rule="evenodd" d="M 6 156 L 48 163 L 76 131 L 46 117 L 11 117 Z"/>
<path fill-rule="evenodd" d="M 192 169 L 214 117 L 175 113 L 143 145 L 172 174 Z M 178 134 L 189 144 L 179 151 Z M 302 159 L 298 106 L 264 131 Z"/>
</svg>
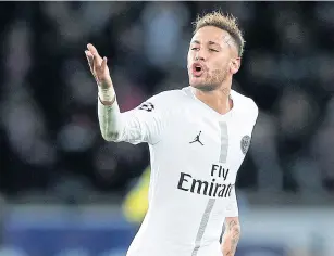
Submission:
<svg viewBox="0 0 334 256">
<path fill-rule="evenodd" d="M 240 238 L 240 225 L 236 219 L 225 222 L 225 232 L 222 239 L 223 256 L 234 256 Z"/>
</svg>

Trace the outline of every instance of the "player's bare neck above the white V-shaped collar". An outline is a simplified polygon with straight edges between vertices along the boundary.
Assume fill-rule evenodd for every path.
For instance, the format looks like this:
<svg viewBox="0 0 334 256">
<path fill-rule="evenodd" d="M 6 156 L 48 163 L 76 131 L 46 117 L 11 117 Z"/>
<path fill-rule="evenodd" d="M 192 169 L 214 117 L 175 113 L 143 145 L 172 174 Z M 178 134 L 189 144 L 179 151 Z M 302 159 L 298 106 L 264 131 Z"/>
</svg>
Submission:
<svg viewBox="0 0 334 256">
<path fill-rule="evenodd" d="M 233 107 L 233 102 L 230 98 L 231 84 L 222 85 L 213 91 L 201 91 L 195 88 L 194 94 L 196 98 L 221 115 L 226 114 Z"/>
</svg>

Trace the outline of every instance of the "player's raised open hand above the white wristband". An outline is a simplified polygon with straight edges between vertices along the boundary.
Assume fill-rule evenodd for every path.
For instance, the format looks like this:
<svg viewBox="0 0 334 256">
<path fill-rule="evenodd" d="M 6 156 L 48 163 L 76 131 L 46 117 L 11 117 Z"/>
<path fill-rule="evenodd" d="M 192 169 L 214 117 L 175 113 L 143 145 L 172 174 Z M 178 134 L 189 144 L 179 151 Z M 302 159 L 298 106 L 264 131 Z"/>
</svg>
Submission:
<svg viewBox="0 0 334 256">
<path fill-rule="evenodd" d="M 98 50 L 91 44 L 87 44 L 87 49 L 85 51 L 90 72 L 97 81 L 98 86 L 102 89 L 107 89 L 112 87 L 112 80 L 109 73 L 109 68 L 107 65 L 107 57 L 103 59 L 98 53 Z"/>
</svg>

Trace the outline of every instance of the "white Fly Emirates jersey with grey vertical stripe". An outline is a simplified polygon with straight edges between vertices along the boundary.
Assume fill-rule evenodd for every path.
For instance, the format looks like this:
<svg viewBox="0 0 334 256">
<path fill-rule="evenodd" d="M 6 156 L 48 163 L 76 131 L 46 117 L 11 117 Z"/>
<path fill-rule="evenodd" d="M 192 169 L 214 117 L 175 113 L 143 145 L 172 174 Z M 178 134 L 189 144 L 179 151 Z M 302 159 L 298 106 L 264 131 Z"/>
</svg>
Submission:
<svg viewBox="0 0 334 256">
<path fill-rule="evenodd" d="M 235 181 L 258 116 L 251 99 L 231 97 L 233 108 L 221 115 L 187 87 L 117 117 L 114 141 L 147 142 L 151 157 L 149 208 L 127 256 L 222 255 L 219 239 L 225 217 L 238 216 Z"/>
</svg>

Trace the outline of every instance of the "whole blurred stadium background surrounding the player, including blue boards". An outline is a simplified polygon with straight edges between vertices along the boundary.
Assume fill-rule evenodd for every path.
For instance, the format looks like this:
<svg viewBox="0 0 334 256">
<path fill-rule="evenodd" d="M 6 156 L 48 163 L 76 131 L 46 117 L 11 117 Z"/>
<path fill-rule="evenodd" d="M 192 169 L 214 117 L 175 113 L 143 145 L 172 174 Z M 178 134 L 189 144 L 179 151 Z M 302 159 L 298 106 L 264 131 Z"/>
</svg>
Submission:
<svg viewBox="0 0 334 256">
<path fill-rule="evenodd" d="M 233 88 L 260 110 L 236 256 L 334 255 L 334 3 L 48 1 L 0 4 L 1 256 L 125 255 L 147 208 L 148 146 L 101 138 L 84 50 L 109 57 L 127 111 L 188 86 L 191 22 L 214 9 L 238 17 Z"/>
</svg>

